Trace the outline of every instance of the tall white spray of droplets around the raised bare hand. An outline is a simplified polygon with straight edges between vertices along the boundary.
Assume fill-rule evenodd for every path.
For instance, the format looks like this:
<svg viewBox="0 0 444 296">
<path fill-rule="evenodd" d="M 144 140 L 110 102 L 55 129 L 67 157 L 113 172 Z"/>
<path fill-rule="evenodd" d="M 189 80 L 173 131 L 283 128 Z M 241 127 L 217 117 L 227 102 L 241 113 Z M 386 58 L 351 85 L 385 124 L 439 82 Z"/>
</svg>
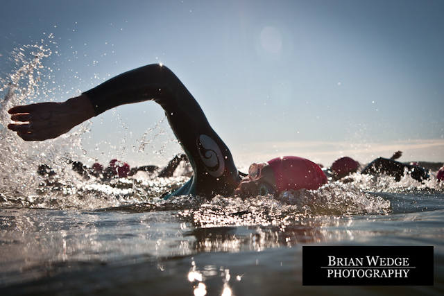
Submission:
<svg viewBox="0 0 444 296">
<path fill-rule="evenodd" d="M 51 78 L 52 69 L 43 63 L 52 52 L 49 46 L 43 43 L 42 40 L 42 44 L 15 49 L 11 53 L 15 71 L 1 81 L 0 91 L 6 92 L 0 109 L 0 166 L 3 168 L 0 171 L 0 192 L 3 195 L 17 197 L 35 193 L 37 185 L 42 182 L 36 173 L 38 164 L 49 164 L 60 175 L 64 175 L 65 159 L 74 156 L 74 150 L 80 148 L 79 135 L 87 131 L 87 125 L 83 125 L 76 132 L 64 135 L 60 139 L 39 143 L 25 142 L 6 128 L 10 122 L 10 107 L 35 103 L 37 98 L 46 98 L 52 90 L 47 83 L 48 78 Z"/>
</svg>

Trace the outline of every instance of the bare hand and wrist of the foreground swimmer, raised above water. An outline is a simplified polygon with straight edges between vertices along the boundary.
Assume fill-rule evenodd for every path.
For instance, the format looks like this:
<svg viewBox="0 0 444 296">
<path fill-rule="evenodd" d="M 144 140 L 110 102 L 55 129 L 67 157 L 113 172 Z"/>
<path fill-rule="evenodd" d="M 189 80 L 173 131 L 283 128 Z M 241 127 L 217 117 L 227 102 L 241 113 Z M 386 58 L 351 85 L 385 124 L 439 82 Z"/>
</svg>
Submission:
<svg viewBox="0 0 444 296">
<path fill-rule="evenodd" d="M 63 103 L 47 102 L 15 106 L 9 111 L 8 128 L 25 141 L 54 139 L 94 116 L 94 108 L 85 95 Z"/>
</svg>

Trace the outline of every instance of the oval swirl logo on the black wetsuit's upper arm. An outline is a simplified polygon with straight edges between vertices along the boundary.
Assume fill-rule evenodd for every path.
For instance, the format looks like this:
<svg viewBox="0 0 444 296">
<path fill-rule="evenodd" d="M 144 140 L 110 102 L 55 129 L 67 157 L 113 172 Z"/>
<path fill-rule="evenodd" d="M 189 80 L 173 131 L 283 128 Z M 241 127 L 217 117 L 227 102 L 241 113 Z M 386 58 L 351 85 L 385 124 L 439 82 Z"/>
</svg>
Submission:
<svg viewBox="0 0 444 296">
<path fill-rule="evenodd" d="M 203 164 L 205 164 L 208 173 L 213 177 L 220 177 L 223 174 L 225 162 L 223 162 L 219 146 L 206 134 L 200 134 L 197 146 L 200 159 L 202 159 Z"/>
</svg>

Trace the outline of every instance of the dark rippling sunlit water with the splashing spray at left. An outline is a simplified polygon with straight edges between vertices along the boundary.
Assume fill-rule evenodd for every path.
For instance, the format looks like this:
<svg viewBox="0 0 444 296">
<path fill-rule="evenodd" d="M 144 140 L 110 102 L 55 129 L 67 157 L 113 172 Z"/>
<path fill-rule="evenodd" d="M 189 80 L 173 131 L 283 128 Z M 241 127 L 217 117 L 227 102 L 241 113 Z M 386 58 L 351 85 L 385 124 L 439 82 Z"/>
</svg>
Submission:
<svg viewBox="0 0 444 296">
<path fill-rule="evenodd" d="M 352 175 L 317 191 L 212 199 L 160 195 L 187 181 L 84 180 L 80 136 L 28 143 L 5 110 L 44 96 L 44 46 L 15 53 L 1 80 L 1 295 L 439 295 L 444 292 L 444 185 Z M 143 145 L 143 143 L 141 143 Z M 37 175 L 49 164 L 55 177 Z M 434 245 L 434 286 L 302 286 L 302 245 Z"/>
</svg>

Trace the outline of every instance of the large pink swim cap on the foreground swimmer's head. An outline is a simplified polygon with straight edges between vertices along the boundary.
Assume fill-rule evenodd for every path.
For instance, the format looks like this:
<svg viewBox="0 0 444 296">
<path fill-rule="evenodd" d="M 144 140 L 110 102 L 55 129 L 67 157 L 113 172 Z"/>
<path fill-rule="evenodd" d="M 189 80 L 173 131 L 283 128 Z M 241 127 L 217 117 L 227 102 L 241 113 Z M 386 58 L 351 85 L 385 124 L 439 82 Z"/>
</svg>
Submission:
<svg viewBox="0 0 444 296">
<path fill-rule="evenodd" d="M 318 189 L 327 183 L 327 177 L 321 168 L 302 157 L 277 157 L 271 159 L 268 165 L 273 168 L 278 192 L 290 189 Z"/>
</svg>

